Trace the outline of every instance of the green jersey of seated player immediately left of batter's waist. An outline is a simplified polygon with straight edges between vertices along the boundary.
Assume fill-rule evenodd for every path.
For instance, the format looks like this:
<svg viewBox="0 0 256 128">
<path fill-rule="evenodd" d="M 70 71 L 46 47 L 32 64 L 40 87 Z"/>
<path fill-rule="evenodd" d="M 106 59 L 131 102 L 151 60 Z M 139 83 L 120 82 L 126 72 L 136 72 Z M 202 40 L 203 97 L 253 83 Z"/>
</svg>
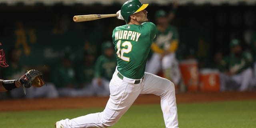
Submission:
<svg viewBox="0 0 256 128">
<path fill-rule="evenodd" d="M 94 77 L 106 78 L 107 80 L 112 79 L 112 75 L 116 70 L 116 58 L 108 58 L 105 55 L 101 55 L 97 58 L 95 64 Z"/>
</svg>

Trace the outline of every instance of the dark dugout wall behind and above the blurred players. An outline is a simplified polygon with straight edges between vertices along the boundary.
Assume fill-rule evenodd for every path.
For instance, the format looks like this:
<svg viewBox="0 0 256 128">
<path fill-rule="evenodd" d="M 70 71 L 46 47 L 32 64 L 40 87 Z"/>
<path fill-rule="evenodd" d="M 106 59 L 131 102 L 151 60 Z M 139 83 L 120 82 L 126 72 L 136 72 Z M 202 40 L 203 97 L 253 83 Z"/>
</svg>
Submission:
<svg viewBox="0 0 256 128">
<path fill-rule="evenodd" d="M 101 53 L 100 44 L 112 40 L 112 30 L 125 24 L 116 18 L 106 18 L 75 23 L 74 15 L 113 14 L 122 5 L 93 6 L 6 6 L 0 5 L 0 42 L 6 54 L 11 47 L 21 51 L 22 65 L 55 65 L 65 53 L 74 62 L 79 62 L 84 50 Z M 159 9 L 170 11 L 171 5 L 148 6 L 148 18 L 154 22 L 154 12 Z M 176 11 L 172 25 L 180 34 L 178 58 L 192 55 L 200 62 L 200 67 L 213 67 L 214 55 L 229 53 L 232 38 L 241 40 L 247 49 L 256 27 L 255 6 L 211 6 L 182 5 Z M 8 58 L 6 58 L 8 61 Z M 33 60 L 33 61 L 31 61 Z"/>
</svg>

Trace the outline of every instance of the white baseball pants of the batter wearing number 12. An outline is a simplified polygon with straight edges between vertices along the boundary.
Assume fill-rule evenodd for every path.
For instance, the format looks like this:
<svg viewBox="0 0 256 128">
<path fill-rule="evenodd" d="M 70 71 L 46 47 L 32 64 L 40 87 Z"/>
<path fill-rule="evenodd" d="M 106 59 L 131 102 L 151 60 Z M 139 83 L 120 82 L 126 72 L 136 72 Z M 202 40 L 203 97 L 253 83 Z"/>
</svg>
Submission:
<svg viewBox="0 0 256 128">
<path fill-rule="evenodd" d="M 142 82 L 113 74 L 110 81 L 110 98 L 103 112 L 88 114 L 74 119 L 60 120 L 64 128 L 107 128 L 113 126 L 130 108 L 139 94 L 155 94 L 161 97 L 161 108 L 166 128 L 178 128 L 174 84 L 167 79 L 145 72 Z"/>
</svg>

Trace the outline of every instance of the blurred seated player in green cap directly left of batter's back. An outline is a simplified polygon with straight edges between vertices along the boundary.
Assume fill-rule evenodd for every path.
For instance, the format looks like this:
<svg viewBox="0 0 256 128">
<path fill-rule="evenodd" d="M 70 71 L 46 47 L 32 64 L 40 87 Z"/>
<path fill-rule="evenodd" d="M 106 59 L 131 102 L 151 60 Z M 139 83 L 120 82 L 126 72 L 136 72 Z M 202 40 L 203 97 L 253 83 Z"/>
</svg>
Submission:
<svg viewBox="0 0 256 128">
<path fill-rule="evenodd" d="M 102 52 L 103 54 L 96 60 L 92 84 L 96 95 L 108 96 L 110 94 L 109 83 L 117 65 L 112 42 L 102 43 Z"/>
</svg>

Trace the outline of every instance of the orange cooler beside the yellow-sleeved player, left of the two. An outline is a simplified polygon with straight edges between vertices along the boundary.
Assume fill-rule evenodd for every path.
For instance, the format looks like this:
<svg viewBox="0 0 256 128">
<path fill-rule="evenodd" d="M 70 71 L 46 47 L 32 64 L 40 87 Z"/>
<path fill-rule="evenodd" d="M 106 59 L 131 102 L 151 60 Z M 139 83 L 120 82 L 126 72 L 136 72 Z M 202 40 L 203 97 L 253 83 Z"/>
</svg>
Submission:
<svg viewBox="0 0 256 128">
<path fill-rule="evenodd" d="M 197 61 L 194 59 L 180 61 L 180 72 L 188 91 L 198 91 Z"/>
</svg>

